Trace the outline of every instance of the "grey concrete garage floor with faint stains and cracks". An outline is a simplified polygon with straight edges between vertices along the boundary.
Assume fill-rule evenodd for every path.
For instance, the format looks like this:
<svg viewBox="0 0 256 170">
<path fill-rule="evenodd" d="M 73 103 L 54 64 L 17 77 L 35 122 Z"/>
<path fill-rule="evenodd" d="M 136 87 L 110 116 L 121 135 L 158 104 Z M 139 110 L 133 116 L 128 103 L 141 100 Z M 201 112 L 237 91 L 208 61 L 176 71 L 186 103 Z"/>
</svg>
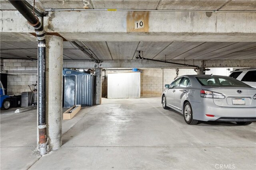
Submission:
<svg viewBox="0 0 256 170">
<path fill-rule="evenodd" d="M 256 169 L 256 123 L 187 125 L 160 98 L 103 99 L 63 121 L 63 145 L 40 156 L 36 110 L 1 110 L 1 169 Z"/>
</svg>

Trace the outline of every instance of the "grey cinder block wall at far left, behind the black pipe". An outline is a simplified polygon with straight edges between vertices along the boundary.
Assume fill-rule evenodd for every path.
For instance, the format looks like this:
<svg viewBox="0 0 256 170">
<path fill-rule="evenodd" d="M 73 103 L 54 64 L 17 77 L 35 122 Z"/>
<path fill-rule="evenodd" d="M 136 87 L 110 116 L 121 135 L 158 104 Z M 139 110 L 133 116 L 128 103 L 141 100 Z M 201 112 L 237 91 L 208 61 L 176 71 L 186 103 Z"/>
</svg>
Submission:
<svg viewBox="0 0 256 170">
<path fill-rule="evenodd" d="M 4 70 L 8 70 L 7 76 L 7 94 L 8 95 L 20 95 L 22 92 L 30 92 L 32 84 L 36 84 L 37 81 L 37 61 L 29 60 L 3 60 Z M 11 71 L 17 72 L 11 72 Z M 32 72 L 22 72 L 22 71 Z M 35 72 L 36 71 L 36 72 Z"/>
</svg>

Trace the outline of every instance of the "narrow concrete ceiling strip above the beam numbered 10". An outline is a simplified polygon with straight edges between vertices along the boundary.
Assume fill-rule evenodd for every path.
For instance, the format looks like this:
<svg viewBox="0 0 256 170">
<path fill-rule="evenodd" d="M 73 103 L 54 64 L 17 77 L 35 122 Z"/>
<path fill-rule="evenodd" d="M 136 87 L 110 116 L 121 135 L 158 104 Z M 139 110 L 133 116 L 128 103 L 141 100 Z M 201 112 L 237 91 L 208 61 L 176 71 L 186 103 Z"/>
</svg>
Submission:
<svg viewBox="0 0 256 170">
<path fill-rule="evenodd" d="M 33 5 L 33 0 L 27 0 Z M 8 0 L 0 1 L 0 10 L 15 10 Z M 35 8 L 144 9 L 144 10 L 244 10 L 256 9 L 255 0 L 36 0 Z"/>
</svg>

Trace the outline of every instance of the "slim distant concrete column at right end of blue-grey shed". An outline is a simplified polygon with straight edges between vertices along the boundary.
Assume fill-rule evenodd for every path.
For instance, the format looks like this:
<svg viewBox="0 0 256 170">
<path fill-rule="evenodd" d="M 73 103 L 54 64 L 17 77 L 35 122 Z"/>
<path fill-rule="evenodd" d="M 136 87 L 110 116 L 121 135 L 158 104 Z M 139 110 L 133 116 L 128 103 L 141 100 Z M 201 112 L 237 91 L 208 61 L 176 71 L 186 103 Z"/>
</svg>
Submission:
<svg viewBox="0 0 256 170">
<path fill-rule="evenodd" d="M 102 68 L 95 68 L 96 74 L 96 103 L 101 104 L 101 95 L 102 95 Z"/>
</svg>

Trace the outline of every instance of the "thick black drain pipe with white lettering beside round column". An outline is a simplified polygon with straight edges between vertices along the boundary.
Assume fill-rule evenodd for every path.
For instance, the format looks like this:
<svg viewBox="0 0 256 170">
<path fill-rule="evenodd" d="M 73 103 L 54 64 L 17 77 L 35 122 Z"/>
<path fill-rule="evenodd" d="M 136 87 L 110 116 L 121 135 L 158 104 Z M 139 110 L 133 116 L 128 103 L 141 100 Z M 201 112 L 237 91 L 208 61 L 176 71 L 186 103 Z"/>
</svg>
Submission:
<svg viewBox="0 0 256 170">
<path fill-rule="evenodd" d="M 46 154 L 46 41 L 44 30 L 39 19 L 32 14 L 23 0 L 9 0 L 9 2 L 32 25 L 38 39 L 38 132 L 40 154 Z"/>
</svg>

